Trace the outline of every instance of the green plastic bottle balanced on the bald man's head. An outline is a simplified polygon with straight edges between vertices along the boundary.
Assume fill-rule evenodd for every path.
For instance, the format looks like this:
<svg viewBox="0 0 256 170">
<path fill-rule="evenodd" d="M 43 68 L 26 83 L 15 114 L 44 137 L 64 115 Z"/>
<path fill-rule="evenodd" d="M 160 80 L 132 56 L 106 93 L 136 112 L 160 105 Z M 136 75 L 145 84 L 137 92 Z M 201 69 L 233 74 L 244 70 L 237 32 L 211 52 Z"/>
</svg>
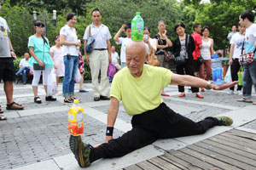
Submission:
<svg viewBox="0 0 256 170">
<path fill-rule="evenodd" d="M 140 15 L 140 12 L 136 13 L 136 16 L 131 20 L 131 40 L 143 41 L 144 20 Z"/>
</svg>

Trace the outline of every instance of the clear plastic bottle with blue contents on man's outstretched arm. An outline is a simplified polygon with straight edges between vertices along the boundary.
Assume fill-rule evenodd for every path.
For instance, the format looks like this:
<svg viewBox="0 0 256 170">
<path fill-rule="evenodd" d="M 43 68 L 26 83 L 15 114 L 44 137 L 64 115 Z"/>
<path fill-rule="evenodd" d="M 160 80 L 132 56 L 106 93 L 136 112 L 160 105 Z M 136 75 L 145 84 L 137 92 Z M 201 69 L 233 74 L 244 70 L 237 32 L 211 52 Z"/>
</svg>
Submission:
<svg viewBox="0 0 256 170">
<path fill-rule="evenodd" d="M 221 60 L 218 59 L 218 54 L 212 55 L 212 81 L 214 84 L 223 84 L 224 77 L 223 77 L 223 68 Z"/>
</svg>

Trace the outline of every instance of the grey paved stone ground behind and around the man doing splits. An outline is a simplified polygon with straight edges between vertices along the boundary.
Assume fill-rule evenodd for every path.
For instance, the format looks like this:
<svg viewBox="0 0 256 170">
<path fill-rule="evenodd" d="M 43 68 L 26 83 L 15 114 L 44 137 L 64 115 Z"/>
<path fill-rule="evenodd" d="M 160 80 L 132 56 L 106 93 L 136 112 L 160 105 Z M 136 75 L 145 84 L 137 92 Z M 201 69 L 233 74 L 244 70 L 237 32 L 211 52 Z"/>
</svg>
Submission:
<svg viewBox="0 0 256 170">
<path fill-rule="evenodd" d="M 108 105 L 97 105 L 96 102 L 93 102 L 91 84 L 84 83 L 84 87 L 89 89 L 90 92 L 86 94 L 76 93 L 75 96 L 81 99 L 83 104 L 95 103 L 96 106 L 91 106 L 92 109 L 107 114 Z M 61 84 L 59 88 L 61 89 Z M 76 84 L 76 91 L 78 91 L 78 84 Z M 168 86 L 165 92 L 170 94 L 176 93 L 177 87 Z M 239 96 L 236 94 L 228 95 L 225 94 L 226 92 L 227 90 L 224 92 L 207 91 L 202 93 L 205 99 L 197 99 L 195 94 L 187 93 L 182 101 L 175 94 L 170 98 L 165 97 L 164 100 L 166 105 L 169 105 L 174 111 L 188 116 L 194 121 L 200 121 L 207 116 L 216 116 L 232 111 L 232 107 L 242 108 L 251 105 L 236 102 Z M 0 94 L 0 105 L 4 109 L 4 115 L 8 117 L 13 112 L 18 115 L 14 118 L 9 118 L 7 121 L 0 122 L 0 169 L 23 167 L 28 164 L 52 159 L 55 156 L 71 153 L 68 146 L 67 111 L 55 111 L 55 108 L 58 106 L 71 106 L 70 104 L 64 104 L 63 98 L 58 97 L 56 102 L 46 102 L 44 100 L 44 89 L 41 85 L 39 86 L 39 95 L 43 103 L 38 105 L 33 103 L 31 85 L 15 84 L 15 101 L 25 105 L 25 111 L 33 111 L 34 109 L 44 111 L 46 108 L 52 108 L 51 111 L 44 114 L 20 116 L 18 111 L 5 110 L 6 100 L 3 93 L 3 83 L 0 84 Z M 253 94 L 253 100 L 256 101 L 255 94 Z M 106 124 L 97 121 L 95 117 L 86 115 L 86 110 L 84 112 L 84 141 L 92 145 L 104 142 Z M 122 104 L 120 104 L 118 119 L 127 123 L 131 122 L 131 116 L 125 113 Z M 243 127 L 256 130 L 256 121 L 249 122 L 243 125 Z M 114 138 L 117 138 L 122 133 L 115 129 Z"/>
</svg>

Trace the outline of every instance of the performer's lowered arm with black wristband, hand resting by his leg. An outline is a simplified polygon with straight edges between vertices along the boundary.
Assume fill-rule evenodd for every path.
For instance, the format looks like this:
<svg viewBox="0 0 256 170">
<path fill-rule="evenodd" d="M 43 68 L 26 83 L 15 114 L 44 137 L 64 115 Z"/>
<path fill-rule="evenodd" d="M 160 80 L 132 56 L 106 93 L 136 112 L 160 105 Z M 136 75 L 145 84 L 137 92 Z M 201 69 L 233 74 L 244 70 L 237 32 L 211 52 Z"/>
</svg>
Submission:
<svg viewBox="0 0 256 170">
<path fill-rule="evenodd" d="M 111 97 L 110 105 L 108 108 L 108 122 L 107 122 L 107 132 L 106 132 L 106 143 L 108 140 L 113 139 L 113 125 L 116 120 L 116 116 L 119 112 L 119 100 Z M 112 131 L 112 132 L 111 132 Z"/>
</svg>

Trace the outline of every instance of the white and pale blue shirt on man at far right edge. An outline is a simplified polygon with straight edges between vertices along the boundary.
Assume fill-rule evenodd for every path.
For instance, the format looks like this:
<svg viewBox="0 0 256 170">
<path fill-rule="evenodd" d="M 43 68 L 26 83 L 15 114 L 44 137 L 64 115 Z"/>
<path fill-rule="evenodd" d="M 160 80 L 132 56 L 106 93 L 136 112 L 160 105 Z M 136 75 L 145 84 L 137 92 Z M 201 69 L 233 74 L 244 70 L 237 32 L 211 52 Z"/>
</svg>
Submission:
<svg viewBox="0 0 256 170">
<path fill-rule="evenodd" d="M 248 53 L 255 49 L 254 43 L 256 42 L 256 24 L 253 24 L 252 26 L 247 28 L 245 38 L 245 50 L 246 53 Z M 256 55 L 254 59 L 256 59 Z"/>
</svg>

